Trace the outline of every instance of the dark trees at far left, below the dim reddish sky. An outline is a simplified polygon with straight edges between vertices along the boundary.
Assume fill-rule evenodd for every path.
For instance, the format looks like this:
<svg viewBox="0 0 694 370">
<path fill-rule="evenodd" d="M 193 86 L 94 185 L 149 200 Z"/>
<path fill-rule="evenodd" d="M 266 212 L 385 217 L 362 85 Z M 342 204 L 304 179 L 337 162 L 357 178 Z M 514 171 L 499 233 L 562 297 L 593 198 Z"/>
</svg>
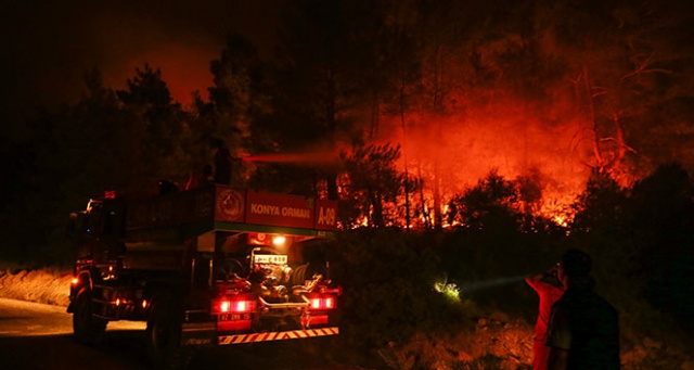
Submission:
<svg viewBox="0 0 694 370">
<path fill-rule="evenodd" d="M 66 217 L 104 190 L 155 192 L 159 179 L 185 179 L 192 152 L 181 130 L 185 115 L 158 72 L 138 69 L 117 93 L 99 71 L 85 84 L 86 98 L 28 122 L 30 136 L 15 146 L 22 167 L 2 213 L 1 254 L 22 264 L 70 264 Z"/>
</svg>

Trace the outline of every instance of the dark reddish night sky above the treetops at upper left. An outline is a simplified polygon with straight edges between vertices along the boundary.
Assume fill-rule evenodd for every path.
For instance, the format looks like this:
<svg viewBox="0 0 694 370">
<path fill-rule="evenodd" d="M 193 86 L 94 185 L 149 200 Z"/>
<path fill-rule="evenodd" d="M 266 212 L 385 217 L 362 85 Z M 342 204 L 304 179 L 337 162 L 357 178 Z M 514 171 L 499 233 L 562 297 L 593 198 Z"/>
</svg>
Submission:
<svg viewBox="0 0 694 370">
<path fill-rule="evenodd" d="M 226 36 L 239 31 L 269 53 L 281 0 L 39 1 L 0 4 L 3 128 L 37 107 L 75 102 L 83 74 L 102 72 L 115 89 L 142 68 L 159 67 L 174 99 L 211 86 L 209 62 Z"/>
</svg>

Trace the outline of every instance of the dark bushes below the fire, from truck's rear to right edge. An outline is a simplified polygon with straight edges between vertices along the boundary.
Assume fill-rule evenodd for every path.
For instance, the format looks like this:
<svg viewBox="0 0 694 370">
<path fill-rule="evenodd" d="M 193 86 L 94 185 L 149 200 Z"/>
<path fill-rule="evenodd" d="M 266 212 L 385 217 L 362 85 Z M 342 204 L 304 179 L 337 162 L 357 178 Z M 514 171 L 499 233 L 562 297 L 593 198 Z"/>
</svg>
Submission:
<svg viewBox="0 0 694 370">
<path fill-rule="evenodd" d="M 491 201 L 510 199 L 507 191 L 487 187 L 491 183 L 502 182 L 483 181 L 471 192 L 486 193 L 479 197 L 487 202 L 465 204 L 475 215 L 490 203 L 505 214 L 485 218 L 484 227 L 422 233 L 360 229 L 342 237 L 335 279 L 345 288 L 344 332 L 352 344 L 377 347 L 407 343 L 414 333 L 470 328 L 487 309 L 532 322 L 537 296 L 523 278 L 552 266 L 571 246 L 593 257 L 597 290 L 620 311 L 625 344 L 663 330 L 686 336 L 676 322 L 686 328 L 694 302 L 686 231 L 692 181 L 679 165 L 659 168 L 630 192 L 595 179 L 575 204 L 578 224 L 568 229 L 528 228 L 514 218 L 514 207 Z M 477 308 L 442 299 L 432 290 L 436 281 L 460 286 L 462 303 Z"/>
</svg>

